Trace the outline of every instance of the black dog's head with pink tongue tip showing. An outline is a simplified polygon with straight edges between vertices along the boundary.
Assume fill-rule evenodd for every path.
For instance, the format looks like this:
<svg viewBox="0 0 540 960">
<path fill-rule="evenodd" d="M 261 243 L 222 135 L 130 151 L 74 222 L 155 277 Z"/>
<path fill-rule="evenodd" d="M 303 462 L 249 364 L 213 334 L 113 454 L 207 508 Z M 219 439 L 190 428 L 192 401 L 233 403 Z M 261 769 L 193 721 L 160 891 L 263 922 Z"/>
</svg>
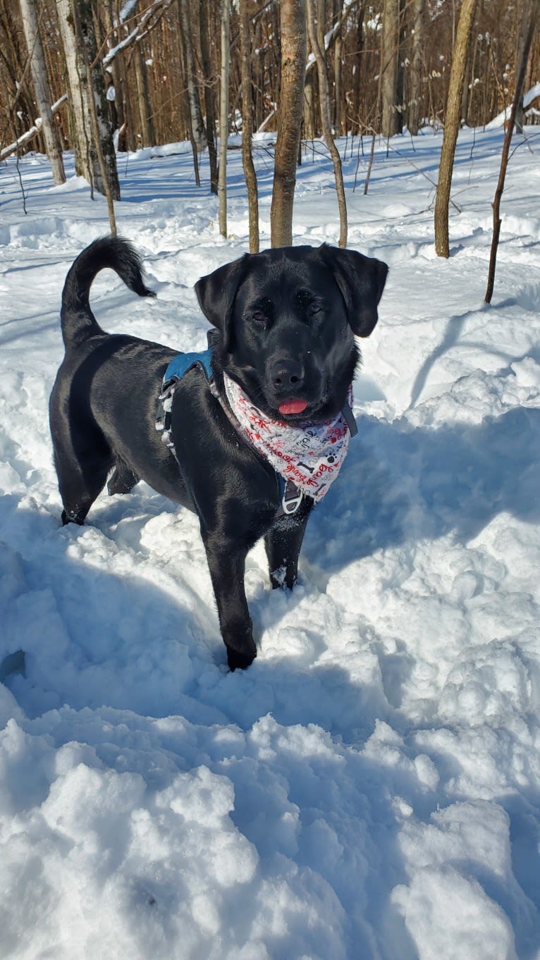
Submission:
<svg viewBox="0 0 540 960">
<path fill-rule="evenodd" d="M 355 374 L 355 335 L 377 324 L 388 268 L 323 245 L 246 253 L 195 290 L 221 333 L 220 361 L 250 399 L 281 420 L 327 420 Z"/>
</svg>

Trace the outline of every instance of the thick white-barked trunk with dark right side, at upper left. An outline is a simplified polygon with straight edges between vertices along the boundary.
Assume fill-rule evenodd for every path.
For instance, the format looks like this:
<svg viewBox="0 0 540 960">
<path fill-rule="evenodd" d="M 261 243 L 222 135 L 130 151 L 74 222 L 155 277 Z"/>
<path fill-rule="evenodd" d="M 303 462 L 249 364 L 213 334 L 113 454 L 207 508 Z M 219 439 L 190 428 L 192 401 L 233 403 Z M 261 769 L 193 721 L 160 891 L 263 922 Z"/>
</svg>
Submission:
<svg viewBox="0 0 540 960">
<path fill-rule="evenodd" d="M 86 66 L 95 60 L 97 53 L 91 5 L 88 0 L 57 0 L 57 12 L 65 57 L 71 138 L 75 148 L 75 169 L 100 193 L 106 194 L 99 156 L 93 143 L 92 117 L 89 104 Z M 107 179 L 114 200 L 120 199 L 120 187 L 116 172 L 116 157 L 105 95 L 105 82 L 101 65 L 91 69 L 94 105 L 99 129 L 99 139 L 105 160 Z"/>
</svg>

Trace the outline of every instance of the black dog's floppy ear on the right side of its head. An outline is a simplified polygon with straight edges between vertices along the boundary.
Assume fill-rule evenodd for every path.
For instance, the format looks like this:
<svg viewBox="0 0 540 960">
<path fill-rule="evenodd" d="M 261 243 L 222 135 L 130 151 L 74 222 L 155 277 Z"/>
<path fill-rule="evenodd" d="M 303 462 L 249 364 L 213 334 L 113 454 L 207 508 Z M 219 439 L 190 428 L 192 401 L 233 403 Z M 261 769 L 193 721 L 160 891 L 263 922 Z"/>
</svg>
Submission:
<svg viewBox="0 0 540 960">
<path fill-rule="evenodd" d="M 357 337 L 369 337 L 377 324 L 377 305 L 382 296 L 388 267 L 381 260 L 338 247 L 320 248 L 345 300 L 348 320 Z"/>
</svg>

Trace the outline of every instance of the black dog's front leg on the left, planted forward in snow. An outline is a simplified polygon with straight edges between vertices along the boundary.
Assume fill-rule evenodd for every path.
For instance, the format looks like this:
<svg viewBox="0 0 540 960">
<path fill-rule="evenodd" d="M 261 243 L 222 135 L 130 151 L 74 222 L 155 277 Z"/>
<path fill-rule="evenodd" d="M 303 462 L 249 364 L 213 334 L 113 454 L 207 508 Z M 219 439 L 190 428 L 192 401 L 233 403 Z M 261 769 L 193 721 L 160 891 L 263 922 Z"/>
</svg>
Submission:
<svg viewBox="0 0 540 960">
<path fill-rule="evenodd" d="M 248 548 L 238 548 L 237 543 L 228 542 L 222 535 L 203 535 L 203 540 L 227 660 L 232 670 L 245 669 L 257 657 L 244 589 Z"/>
</svg>

